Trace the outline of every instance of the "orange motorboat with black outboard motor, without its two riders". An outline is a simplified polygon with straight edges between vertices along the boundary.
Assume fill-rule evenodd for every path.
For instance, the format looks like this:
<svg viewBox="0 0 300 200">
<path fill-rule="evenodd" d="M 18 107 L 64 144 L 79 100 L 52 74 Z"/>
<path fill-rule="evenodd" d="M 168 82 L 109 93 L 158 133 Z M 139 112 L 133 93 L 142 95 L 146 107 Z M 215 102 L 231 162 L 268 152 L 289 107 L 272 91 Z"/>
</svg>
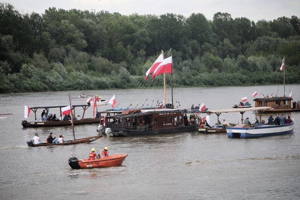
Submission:
<svg viewBox="0 0 300 200">
<path fill-rule="evenodd" d="M 111 167 L 121 165 L 128 154 L 117 154 L 102 157 L 94 160 L 78 160 L 76 157 L 69 158 L 69 165 L 72 169 L 94 168 L 94 167 Z"/>
</svg>

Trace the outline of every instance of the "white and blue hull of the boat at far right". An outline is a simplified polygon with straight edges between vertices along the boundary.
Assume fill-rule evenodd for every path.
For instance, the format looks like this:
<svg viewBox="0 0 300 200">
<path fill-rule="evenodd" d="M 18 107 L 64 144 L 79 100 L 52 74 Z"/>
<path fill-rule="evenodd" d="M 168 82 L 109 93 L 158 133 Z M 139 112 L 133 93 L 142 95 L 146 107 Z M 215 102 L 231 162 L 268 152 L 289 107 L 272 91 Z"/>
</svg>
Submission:
<svg viewBox="0 0 300 200">
<path fill-rule="evenodd" d="M 255 124 L 238 124 L 234 127 L 227 127 L 228 138 L 256 138 L 265 136 L 278 136 L 291 134 L 294 130 L 294 122 L 283 125 Z"/>
</svg>

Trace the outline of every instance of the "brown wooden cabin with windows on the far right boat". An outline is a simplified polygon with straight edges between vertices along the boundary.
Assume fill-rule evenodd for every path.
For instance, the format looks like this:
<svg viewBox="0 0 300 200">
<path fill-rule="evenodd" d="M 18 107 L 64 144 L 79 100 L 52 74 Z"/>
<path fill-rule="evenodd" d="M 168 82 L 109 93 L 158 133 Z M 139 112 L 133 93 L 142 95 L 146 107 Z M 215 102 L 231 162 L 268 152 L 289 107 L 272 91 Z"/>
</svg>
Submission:
<svg viewBox="0 0 300 200">
<path fill-rule="evenodd" d="M 255 101 L 255 107 L 268 106 L 272 107 L 271 110 L 273 110 L 274 112 L 284 112 L 290 111 L 292 109 L 292 100 L 293 98 L 290 97 L 272 97 L 256 98 L 253 101 Z"/>
</svg>

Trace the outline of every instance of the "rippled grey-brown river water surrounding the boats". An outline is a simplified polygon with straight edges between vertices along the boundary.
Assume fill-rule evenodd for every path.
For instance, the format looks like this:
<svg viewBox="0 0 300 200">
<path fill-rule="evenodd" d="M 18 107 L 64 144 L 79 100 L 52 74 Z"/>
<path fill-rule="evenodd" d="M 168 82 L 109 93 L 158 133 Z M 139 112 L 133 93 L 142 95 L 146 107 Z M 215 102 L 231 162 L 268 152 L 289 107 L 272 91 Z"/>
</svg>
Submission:
<svg viewBox="0 0 300 200">
<path fill-rule="evenodd" d="M 204 102 L 209 109 L 232 108 L 252 94 L 283 94 L 281 86 L 179 88 L 175 105 Z M 300 100 L 300 85 L 289 85 L 287 95 Z M 45 141 L 50 132 L 72 139 L 72 128 L 22 128 L 24 105 L 67 105 L 69 92 L 0 95 L 0 199 L 222 199 L 282 200 L 300 199 L 300 113 L 285 113 L 296 123 L 294 133 L 258 139 L 230 139 L 226 134 L 179 133 L 147 137 L 101 138 L 88 144 L 28 147 L 26 140 L 39 133 Z M 83 104 L 80 93 L 111 98 L 118 107 L 155 104 L 163 92 L 150 90 L 71 91 L 72 103 Z M 297 94 L 298 93 L 298 94 Z M 168 91 L 169 94 L 169 91 Z M 178 99 L 176 99 L 178 98 Z M 170 99 L 167 99 L 169 102 Z M 138 103 L 140 102 L 140 103 Z M 132 105 L 130 105 L 132 103 Z M 99 110 L 110 105 L 98 106 Z M 82 115 L 80 110 L 76 115 Z M 81 112 L 81 113 L 80 113 Z M 37 115 L 40 116 L 41 110 Z M 59 114 L 56 110 L 50 113 Z M 204 114 L 200 114 L 204 117 Z M 92 116 L 90 107 L 85 114 Z M 257 114 L 246 112 L 254 122 Z M 266 120 L 268 115 L 263 115 Z M 28 121 L 34 115 L 31 111 Z M 223 113 L 220 120 L 238 122 L 240 113 Z M 211 123 L 217 121 L 211 116 Z M 98 124 L 75 126 L 76 138 L 97 135 Z M 72 154 L 87 158 L 91 148 L 105 146 L 109 153 L 128 153 L 121 166 L 73 170 L 68 165 Z"/>
</svg>

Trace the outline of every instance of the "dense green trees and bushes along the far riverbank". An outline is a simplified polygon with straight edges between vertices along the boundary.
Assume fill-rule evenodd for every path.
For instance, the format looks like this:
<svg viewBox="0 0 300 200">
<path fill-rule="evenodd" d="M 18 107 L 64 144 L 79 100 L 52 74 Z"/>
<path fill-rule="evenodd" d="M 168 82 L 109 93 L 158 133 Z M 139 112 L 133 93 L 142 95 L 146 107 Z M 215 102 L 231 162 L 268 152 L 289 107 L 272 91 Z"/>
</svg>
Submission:
<svg viewBox="0 0 300 200">
<path fill-rule="evenodd" d="M 145 73 L 172 48 L 177 87 L 300 83 L 300 19 L 124 16 L 49 8 L 20 14 L 0 3 L 0 94 L 159 87 Z M 169 76 L 169 75 L 167 75 Z"/>
</svg>

